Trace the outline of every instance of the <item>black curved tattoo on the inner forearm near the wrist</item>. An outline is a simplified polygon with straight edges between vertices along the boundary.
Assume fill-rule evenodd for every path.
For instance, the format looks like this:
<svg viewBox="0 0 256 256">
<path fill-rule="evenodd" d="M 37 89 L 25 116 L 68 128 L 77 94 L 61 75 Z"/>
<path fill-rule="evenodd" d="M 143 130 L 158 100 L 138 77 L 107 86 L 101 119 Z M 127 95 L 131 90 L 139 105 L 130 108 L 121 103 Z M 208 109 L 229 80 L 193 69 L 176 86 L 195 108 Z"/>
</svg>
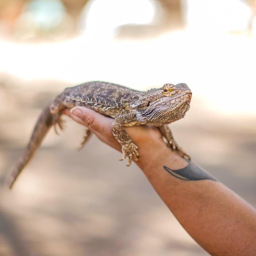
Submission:
<svg viewBox="0 0 256 256">
<path fill-rule="evenodd" d="M 189 165 L 185 166 L 182 169 L 178 170 L 172 170 L 166 166 L 163 166 L 163 168 L 169 172 L 172 176 L 180 179 L 180 180 L 213 180 L 217 181 L 214 177 L 212 177 L 210 174 L 205 172 L 202 168 L 199 166 L 196 166 L 195 164 L 189 162 Z"/>
</svg>

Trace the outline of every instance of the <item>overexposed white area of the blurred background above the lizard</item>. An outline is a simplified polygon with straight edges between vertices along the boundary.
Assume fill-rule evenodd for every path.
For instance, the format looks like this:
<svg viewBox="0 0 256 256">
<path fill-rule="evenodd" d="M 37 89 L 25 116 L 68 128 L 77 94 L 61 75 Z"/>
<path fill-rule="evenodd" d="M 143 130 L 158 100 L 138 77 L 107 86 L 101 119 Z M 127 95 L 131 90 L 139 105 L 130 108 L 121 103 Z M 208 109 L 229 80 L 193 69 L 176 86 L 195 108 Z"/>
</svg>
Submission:
<svg viewBox="0 0 256 256">
<path fill-rule="evenodd" d="M 154 16 L 153 2 L 124 3 L 128 12 L 115 0 L 115 7 L 108 10 L 103 0 L 89 5 L 92 9 L 86 20 L 95 37 L 84 33 L 65 41 L 37 43 L 0 39 L 0 72 L 19 79 L 53 79 L 74 85 L 105 80 L 141 90 L 186 82 L 194 97 L 213 112 L 256 115 L 256 37 L 240 33 L 249 18 L 244 3 L 191 0 L 187 2 L 186 30 L 152 39 L 115 40 L 112 35 L 118 25 L 147 23 Z M 94 31 L 99 15 L 108 22 L 97 23 L 99 30 Z"/>
</svg>

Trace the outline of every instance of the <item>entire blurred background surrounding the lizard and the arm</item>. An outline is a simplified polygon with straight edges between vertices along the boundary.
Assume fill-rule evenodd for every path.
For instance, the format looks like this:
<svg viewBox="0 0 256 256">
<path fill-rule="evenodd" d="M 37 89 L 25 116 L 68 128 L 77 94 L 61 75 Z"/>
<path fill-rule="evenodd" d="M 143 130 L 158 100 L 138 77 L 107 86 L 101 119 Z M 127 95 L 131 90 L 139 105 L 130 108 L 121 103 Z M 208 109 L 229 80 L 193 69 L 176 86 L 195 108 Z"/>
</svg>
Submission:
<svg viewBox="0 0 256 256">
<path fill-rule="evenodd" d="M 256 207 L 256 1 L 0 0 L 0 255 L 208 255 L 143 173 L 67 120 L 12 191 L 41 109 L 67 86 L 185 82 L 170 125 L 193 161 Z"/>
</svg>

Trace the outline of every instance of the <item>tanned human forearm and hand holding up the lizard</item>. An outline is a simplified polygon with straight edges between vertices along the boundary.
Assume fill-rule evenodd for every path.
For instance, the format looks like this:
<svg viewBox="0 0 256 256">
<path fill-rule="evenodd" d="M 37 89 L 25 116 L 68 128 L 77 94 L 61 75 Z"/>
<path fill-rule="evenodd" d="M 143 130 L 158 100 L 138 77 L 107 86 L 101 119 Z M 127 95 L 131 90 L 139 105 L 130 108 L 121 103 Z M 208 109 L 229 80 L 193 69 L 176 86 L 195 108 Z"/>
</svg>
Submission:
<svg viewBox="0 0 256 256">
<path fill-rule="evenodd" d="M 70 114 L 68 109 L 64 113 L 121 151 L 112 134 L 113 119 L 90 109 L 78 109 L 82 110 L 82 119 Z M 184 158 L 166 147 L 157 128 L 137 126 L 126 130 L 139 147 L 140 158 L 136 164 L 195 241 L 211 255 L 255 255 L 255 209 L 199 167 L 188 166 Z M 180 175 L 173 176 L 177 169 Z M 190 170 L 194 178 L 184 170 Z"/>
</svg>

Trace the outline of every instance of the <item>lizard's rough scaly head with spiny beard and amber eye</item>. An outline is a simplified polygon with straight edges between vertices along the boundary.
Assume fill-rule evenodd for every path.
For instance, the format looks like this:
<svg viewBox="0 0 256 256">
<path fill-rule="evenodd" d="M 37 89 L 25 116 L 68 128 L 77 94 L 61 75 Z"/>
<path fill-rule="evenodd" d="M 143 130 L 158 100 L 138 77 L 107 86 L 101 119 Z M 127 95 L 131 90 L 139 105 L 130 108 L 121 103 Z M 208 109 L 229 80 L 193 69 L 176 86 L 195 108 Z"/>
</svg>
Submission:
<svg viewBox="0 0 256 256">
<path fill-rule="evenodd" d="M 161 126 L 185 116 L 192 92 L 185 83 L 164 84 L 139 96 L 132 105 L 141 124 Z"/>
</svg>

